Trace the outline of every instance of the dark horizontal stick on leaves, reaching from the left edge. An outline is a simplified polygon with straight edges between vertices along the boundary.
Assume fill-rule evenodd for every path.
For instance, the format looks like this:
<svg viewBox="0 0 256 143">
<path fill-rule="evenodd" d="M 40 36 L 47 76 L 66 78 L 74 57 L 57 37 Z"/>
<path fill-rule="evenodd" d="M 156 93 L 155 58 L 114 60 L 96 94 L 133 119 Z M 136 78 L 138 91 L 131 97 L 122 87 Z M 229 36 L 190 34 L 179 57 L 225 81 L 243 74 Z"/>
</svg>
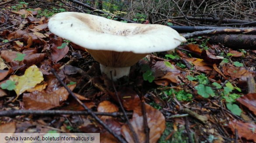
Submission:
<svg viewBox="0 0 256 143">
<path fill-rule="evenodd" d="M 127 113 L 129 116 L 133 113 Z M 65 110 L 7 110 L 0 111 L 0 116 L 19 116 L 19 115 L 89 115 L 86 111 L 65 111 Z M 123 116 L 123 113 L 120 112 L 112 112 L 112 113 L 104 113 L 104 112 L 95 112 L 97 116 Z"/>
</svg>

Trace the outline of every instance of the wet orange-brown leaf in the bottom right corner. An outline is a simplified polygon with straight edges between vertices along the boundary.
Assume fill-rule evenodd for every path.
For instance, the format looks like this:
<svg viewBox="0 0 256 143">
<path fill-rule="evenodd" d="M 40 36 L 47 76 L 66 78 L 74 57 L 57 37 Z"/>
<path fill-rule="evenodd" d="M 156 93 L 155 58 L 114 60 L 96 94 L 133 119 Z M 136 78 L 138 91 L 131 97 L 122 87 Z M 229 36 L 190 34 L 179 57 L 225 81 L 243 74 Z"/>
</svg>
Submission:
<svg viewBox="0 0 256 143">
<path fill-rule="evenodd" d="M 235 130 L 237 130 L 239 138 L 245 138 L 247 140 L 253 140 L 254 142 L 256 142 L 256 124 L 244 123 L 242 121 L 233 120 L 228 123 L 228 126 L 234 134 Z"/>
</svg>

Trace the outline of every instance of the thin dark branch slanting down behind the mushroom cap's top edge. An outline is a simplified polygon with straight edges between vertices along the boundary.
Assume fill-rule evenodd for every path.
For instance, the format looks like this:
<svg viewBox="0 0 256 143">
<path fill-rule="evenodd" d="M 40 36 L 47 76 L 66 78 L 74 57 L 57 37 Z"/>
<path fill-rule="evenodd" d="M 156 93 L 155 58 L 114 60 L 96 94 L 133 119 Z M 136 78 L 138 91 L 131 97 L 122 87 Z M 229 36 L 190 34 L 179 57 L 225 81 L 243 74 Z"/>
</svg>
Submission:
<svg viewBox="0 0 256 143">
<path fill-rule="evenodd" d="M 128 19 L 126 19 L 126 18 L 116 16 L 116 15 L 114 15 L 114 14 L 112 14 L 112 13 L 107 13 L 107 12 L 105 12 L 105 11 L 98 10 L 98 9 L 96 9 L 96 8 L 94 8 L 94 7 L 91 7 L 91 6 L 89 6 L 88 4 L 82 3 L 82 2 L 80 2 L 80 1 L 78 1 L 78 0 L 68 0 L 68 1 L 70 1 L 70 2 L 72 2 L 72 3 L 76 3 L 76 4 L 80 5 L 80 6 L 86 7 L 87 9 L 93 10 L 94 12 L 97 12 L 97 13 L 107 14 L 107 15 L 110 15 L 111 17 L 115 17 L 115 18 L 117 18 L 117 19 L 119 19 L 119 20 L 126 20 L 126 21 L 128 21 L 128 23 L 137 23 L 137 22 L 135 22 L 135 21 L 133 21 L 133 20 L 128 20 Z"/>
</svg>

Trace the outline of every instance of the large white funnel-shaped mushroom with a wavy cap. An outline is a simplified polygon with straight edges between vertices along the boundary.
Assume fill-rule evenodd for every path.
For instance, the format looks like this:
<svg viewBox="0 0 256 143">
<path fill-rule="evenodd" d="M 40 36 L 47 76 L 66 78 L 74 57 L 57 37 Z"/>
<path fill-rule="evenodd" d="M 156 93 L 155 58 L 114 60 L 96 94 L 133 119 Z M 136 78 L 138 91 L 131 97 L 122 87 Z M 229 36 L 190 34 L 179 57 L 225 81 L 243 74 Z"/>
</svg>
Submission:
<svg viewBox="0 0 256 143">
<path fill-rule="evenodd" d="M 84 47 L 102 73 L 117 80 L 152 52 L 173 50 L 186 39 L 159 24 L 123 23 L 86 13 L 62 12 L 49 19 L 50 32 Z"/>
</svg>

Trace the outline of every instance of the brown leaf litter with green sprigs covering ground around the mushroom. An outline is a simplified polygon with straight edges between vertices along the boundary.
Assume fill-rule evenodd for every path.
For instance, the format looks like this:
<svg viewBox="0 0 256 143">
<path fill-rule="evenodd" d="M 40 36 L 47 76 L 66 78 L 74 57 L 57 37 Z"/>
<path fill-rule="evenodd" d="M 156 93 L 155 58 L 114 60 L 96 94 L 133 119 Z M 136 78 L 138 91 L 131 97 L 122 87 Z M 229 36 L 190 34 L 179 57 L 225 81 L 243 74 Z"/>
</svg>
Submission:
<svg viewBox="0 0 256 143">
<path fill-rule="evenodd" d="M 0 64 L 0 110 L 84 110 L 50 72 L 53 68 L 66 84 L 75 82 L 68 87 L 93 111 L 121 112 L 112 82 L 98 72 L 98 63 L 83 48 L 50 33 L 48 18 L 37 17 L 40 10 L 12 10 L 12 18 L 6 22 L 14 24 L 14 28 L 0 31 L 3 39 L 0 57 L 4 60 Z M 14 41 L 4 43 L 4 40 Z M 129 80 L 122 78 L 115 84 L 141 143 L 147 140 L 144 114 L 150 143 L 178 140 L 182 136 L 186 140 L 192 134 L 196 134 L 194 140 L 214 138 L 214 143 L 232 142 L 237 140 L 236 136 L 239 141 L 256 142 L 255 93 L 247 94 L 247 78 L 255 78 L 256 74 L 255 50 L 244 53 L 210 43 L 207 48 L 185 43 L 175 53 L 148 55 L 132 67 Z M 142 63 L 148 67 L 145 71 L 140 69 Z M 234 88 L 227 90 L 229 84 Z M 232 99 L 237 97 L 234 94 L 241 97 Z M 145 113 L 141 99 L 146 102 Z M 232 111 L 238 109 L 239 114 Z M 209 120 L 201 122 L 199 117 Z M 22 122 L 25 118 L 29 123 Z M 116 134 L 133 143 L 123 116 L 100 118 Z M 25 115 L 2 116 L 0 120 L 0 132 L 6 129 L 9 133 L 31 132 L 35 128 L 34 132 L 46 133 L 50 129 L 42 126 L 49 126 L 55 120 L 50 126 L 59 131 L 101 133 L 102 143 L 118 142 L 86 115 L 39 116 L 38 119 Z"/>
</svg>

